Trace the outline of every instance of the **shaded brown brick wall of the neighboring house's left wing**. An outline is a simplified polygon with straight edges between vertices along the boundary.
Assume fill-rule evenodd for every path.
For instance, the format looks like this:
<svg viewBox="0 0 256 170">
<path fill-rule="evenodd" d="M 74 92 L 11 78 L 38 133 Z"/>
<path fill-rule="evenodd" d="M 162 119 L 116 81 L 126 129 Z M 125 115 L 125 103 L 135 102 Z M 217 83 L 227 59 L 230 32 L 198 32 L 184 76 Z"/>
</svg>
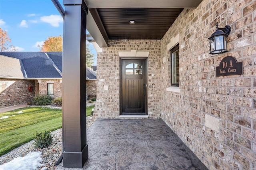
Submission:
<svg viewBox="0 0 256 170">
<path fill-rule="evenodd" d="M 33 91 L 28 91 L 32 86 Z M 0 108 L 31 102 L 35 96 L 34 80 L 0 79 Z"/>
</svg>

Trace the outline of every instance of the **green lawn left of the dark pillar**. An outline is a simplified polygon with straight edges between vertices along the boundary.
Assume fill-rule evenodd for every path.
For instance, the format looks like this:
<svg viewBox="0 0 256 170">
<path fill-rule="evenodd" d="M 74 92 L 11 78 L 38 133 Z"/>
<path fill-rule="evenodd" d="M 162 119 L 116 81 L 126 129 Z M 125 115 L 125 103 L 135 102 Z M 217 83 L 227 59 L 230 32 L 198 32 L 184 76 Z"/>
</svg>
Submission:
<svg viewBox="0 0 256 170">
<path fill-rule="evenodd" d="M 34 139 L 36 132 L 62 127 L 62 110 L 26 107 L 1 113 L 0 156 Z"/>
</svg>

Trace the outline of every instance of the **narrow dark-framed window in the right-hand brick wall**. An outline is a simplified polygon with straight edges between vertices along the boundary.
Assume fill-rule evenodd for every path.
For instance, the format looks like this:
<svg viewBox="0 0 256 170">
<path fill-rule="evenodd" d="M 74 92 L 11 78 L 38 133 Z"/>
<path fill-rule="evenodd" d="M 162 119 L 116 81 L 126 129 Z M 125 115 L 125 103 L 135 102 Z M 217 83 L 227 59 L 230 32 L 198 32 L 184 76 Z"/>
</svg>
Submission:
<svg viewBox="0 0 256 170">
<path fill-rule="evenodd" d="M 171 50 L 171 86 L 180 86 L 179 44 Z"/>
</svg>

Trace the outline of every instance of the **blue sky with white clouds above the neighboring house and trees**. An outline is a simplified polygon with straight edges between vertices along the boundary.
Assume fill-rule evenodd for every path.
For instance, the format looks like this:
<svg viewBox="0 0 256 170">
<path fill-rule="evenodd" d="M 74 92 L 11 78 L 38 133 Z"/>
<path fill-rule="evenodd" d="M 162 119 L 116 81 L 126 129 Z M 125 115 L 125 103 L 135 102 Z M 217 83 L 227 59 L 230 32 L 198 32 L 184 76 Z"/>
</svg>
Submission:
<svg viewBox="0 0 256 170">
<path fill-rule="evenodd" d="M 0 0 L 0 28 L 18 51 L 39 51 L 48 37 L 63 36 L 63 19 L 51 0 Z"/>
</svg>

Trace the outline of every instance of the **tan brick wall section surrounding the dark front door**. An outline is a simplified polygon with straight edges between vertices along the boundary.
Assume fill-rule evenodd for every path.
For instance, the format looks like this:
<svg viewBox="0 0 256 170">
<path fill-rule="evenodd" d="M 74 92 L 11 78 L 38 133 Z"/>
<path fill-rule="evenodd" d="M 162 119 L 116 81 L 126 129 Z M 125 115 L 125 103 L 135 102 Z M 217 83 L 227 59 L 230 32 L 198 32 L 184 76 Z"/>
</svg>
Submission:
<svg viewBox="0 0 256 170">
<path fill-rule="evenodd" d="M 97 53 L 97 101 L 94 119 L 120 115 L 120 57 L 118 51 L 149 51 L 148 115 L 161 116 L 160 40 L 109 40 L 109 47 Z"/>
</svg>

